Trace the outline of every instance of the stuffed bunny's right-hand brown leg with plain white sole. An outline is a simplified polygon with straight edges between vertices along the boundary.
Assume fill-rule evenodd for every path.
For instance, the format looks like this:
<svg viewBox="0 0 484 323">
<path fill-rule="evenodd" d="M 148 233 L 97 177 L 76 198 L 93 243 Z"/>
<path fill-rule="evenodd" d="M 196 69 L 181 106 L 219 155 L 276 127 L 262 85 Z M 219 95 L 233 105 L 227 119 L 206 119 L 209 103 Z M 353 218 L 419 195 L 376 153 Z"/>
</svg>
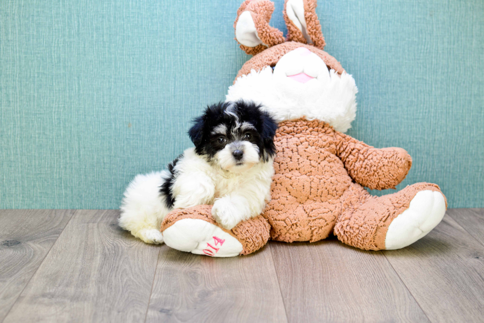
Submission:
<svg viewBox="0 0 484 323">
<path fill-rule="evenodd" d="M 445 196 L 435 184 L 417 183 L 380 197 L 357 184 L 350 189 L 353 195 L 346 196 L 334 233 L 360 249 L 404 248 L 434 229 L 445 214 Z"/>
</svg>

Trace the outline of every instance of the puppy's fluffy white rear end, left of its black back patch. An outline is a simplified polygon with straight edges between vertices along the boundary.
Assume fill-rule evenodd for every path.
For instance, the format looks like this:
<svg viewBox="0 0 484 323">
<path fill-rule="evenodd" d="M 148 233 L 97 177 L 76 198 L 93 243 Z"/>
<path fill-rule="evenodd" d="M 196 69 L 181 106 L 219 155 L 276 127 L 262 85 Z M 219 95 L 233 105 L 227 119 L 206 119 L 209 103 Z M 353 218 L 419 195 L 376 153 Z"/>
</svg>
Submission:
<svg viewBox="0 0 484 323">
<path fill-rule="evenodd" d="M 166 170 L 136 176 L 121 202 L 120 227 L 147 243 L 163 242 L 160 225 L 168 208 L 160 187 L 167 176 Z"/>
</svg>

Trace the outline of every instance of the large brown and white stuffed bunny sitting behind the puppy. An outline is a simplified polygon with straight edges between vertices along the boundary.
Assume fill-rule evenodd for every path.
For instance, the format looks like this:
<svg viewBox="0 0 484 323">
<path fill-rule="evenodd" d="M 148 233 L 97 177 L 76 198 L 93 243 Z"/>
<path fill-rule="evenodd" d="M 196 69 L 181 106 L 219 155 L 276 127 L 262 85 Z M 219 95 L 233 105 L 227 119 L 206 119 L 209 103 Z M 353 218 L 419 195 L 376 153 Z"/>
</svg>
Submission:
<svg viewBox="0 0 484 323">
<path fill-rule="evenodd" d="M 399 249 L 417 241 L 444 217 L 438 185 L 418 183 L 376 197 L 370 189 L 395 188 L 412 160 L 402 148 L 374 148 L 345 135 L 355 119 L 353 77 L 323 51 L 316 0 L 286 0 L 287 40 L 269 26 L 274 4 L 246 0 L 235 35 L 254 55 L 239 71 L 227 100 L 262 104 L 278 122 L 272 200 L 262 215 L 223 229 L 211 206 L 173 210 L 161 224 L 175 249 L 230 257 L 249 254 L 269 238 L 319 241 L 335 234 L 365 250 Z"/>
</svg>

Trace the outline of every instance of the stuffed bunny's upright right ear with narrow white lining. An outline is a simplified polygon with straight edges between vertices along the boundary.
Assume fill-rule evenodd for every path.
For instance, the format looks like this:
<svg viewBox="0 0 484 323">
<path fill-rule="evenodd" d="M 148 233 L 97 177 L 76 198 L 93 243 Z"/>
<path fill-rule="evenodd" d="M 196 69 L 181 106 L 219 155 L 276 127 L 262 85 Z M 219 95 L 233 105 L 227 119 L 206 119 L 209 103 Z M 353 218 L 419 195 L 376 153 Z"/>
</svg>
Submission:
<svg viewBox="0 0 484 323">
<path fill-rule="evenodd" d="M 324 49 L 321 24 L 316 15 L 316 0 L 285 0 L 284 21 L 287 40 Z"/>
</svg>

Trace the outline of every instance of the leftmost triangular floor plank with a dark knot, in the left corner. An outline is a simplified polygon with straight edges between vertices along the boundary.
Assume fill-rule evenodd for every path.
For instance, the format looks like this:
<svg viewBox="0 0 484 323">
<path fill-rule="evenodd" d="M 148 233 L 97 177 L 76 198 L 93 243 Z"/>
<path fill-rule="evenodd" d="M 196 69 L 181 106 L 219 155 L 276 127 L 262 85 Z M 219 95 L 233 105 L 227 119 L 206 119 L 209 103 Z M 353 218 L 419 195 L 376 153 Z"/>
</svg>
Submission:
<svg viewBox="0 0 484 323">
<path fill-rule="evenodd" d="M 0 210 L 0 322 L 74 210 Z"/>
</svg>

